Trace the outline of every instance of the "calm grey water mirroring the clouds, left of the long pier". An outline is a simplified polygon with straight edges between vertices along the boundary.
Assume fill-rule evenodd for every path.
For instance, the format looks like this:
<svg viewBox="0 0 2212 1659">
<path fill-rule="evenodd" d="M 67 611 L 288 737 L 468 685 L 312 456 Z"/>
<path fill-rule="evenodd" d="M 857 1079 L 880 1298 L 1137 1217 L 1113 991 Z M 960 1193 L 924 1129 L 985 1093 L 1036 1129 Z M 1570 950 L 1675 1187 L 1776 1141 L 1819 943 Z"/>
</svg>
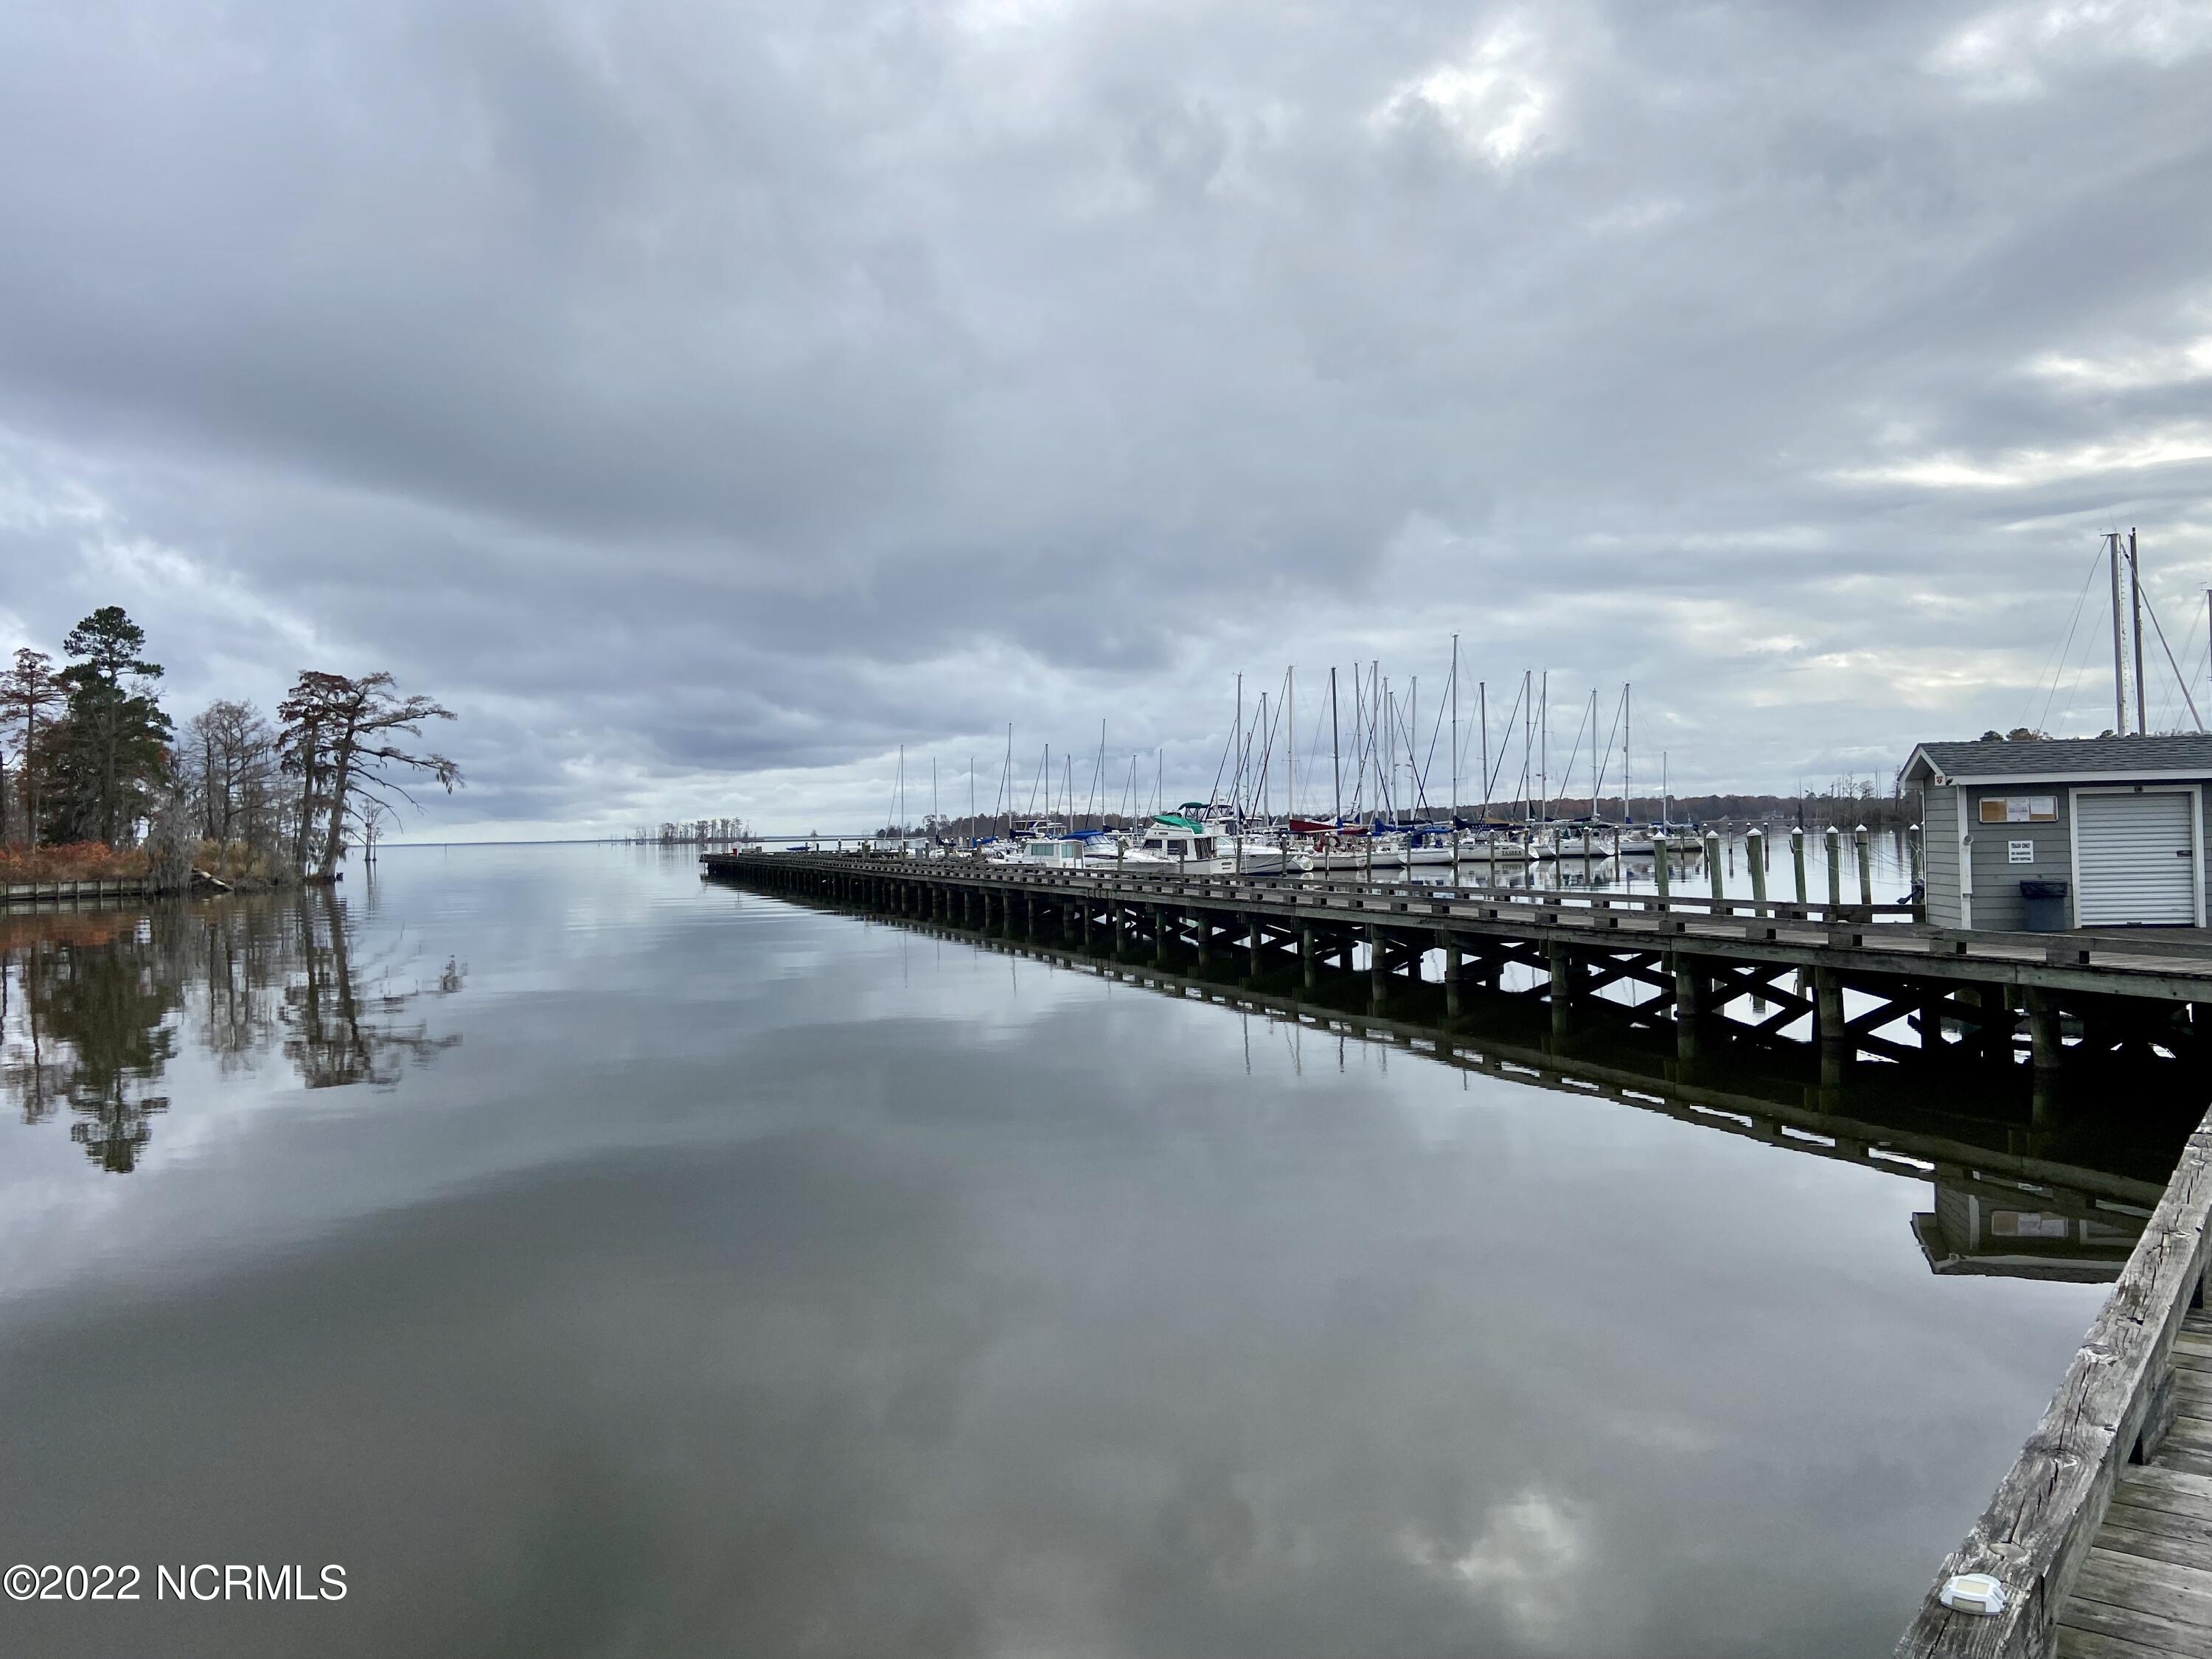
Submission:
<svg viewBox="0 0 2212 1659">
<path fill-rule="evenodd" d="M 1880 1652 L 2101 1298 L 681 854 L 0 940 L 9 1655 Z"/>
</svg>

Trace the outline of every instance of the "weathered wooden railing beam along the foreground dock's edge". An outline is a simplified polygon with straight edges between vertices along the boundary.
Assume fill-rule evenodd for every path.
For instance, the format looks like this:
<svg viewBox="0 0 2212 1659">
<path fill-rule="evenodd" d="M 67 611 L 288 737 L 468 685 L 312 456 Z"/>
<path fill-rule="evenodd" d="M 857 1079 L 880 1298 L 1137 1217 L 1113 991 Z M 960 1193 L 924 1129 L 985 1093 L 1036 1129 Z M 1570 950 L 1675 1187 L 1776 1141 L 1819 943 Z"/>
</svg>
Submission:
<svg viewBox="0 0 2212 1659">
<path fill-rule="evenodd" d="M 2166 1197 L 2112 1285 L 2051 1409 L 1929 1588 L 1896 1659 L 2051 1659 L 2057 1621 L 2088 1557 L 2112 1484 L 2148 1462 L 2174 1420 L 2174 1336 L 2205 1298 L 2212 1261 L 2212 1113 L 2197 1126 Z M 1940 1599 L 1955 1575 L 2004 1586 L 2002 1613 Z"/>
</svg>

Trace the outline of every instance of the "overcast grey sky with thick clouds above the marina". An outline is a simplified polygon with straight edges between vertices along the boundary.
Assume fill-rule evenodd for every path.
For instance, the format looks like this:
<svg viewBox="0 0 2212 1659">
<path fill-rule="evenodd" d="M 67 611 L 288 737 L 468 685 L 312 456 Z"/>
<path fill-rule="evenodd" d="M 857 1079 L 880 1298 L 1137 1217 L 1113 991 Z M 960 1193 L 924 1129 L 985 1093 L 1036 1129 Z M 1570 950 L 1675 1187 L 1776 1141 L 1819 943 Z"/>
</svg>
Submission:
<svg viewBox="0 0 2212 1659">
<path fill-rule="evenodd" d="M 2115 524 L 2203 703 L 2212 4 L 13 0 L 0 148 L 0 641 L 392 668 L 418 836 L 1172 801 L 1453 633 L 1887 787 L 2110 723 Z"/>
</svg>

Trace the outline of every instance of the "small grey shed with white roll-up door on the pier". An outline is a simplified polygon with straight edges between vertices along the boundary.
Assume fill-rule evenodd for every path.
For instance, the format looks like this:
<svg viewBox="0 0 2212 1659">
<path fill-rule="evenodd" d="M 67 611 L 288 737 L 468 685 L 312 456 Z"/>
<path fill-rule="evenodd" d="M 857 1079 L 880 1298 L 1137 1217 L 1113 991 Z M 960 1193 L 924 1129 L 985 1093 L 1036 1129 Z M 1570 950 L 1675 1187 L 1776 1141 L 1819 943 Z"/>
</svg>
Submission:
<svg viewBox="0 0 2212 1659">
<path fill-rule="evenodd" d="M 2203 927 L 2212 734 L 1920 743 L 1936 927 Z"/>
</svg>

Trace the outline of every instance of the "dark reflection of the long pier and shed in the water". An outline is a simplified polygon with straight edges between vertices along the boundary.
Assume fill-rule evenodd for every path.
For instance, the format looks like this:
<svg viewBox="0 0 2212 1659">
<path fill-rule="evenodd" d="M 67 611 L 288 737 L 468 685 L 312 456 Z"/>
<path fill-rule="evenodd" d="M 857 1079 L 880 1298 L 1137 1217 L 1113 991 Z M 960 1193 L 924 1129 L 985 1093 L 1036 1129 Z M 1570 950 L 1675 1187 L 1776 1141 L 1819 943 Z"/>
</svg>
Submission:
<svg viewBox="0 0 2212 1659">
<path fill-rule="evenodd" d="M 1730 1075 L 1719 1064 L 1692 1068 L 1692 1082 L 1663 1051 L 1610 1042 L 1599 1029 L 1571 1044 L 1555 1042 L 1542 1006 L 1531 1020 L 1531 1002 L 1517 993 L 1471 989 L 1460 1015 L 1440 1026 L 1418 1022 L 1411 1009 L 1374 1013 L 1356 1006 L 1356 995 L 1347 1006 L 1343 995 L 1329 998 L 1345 989 L 1327 982 L 1336 975 L 1321 975 L 1314 991 L 1270 989 L 1239 975 L 1234 958 L 1170 969 L 1079 945 L 1033 942 L 1024 931 L 1009 936 L 909 916 L 889 920 L 1161 995 L 1206 1000 L 1312 1033 L 1387 1042 L 1444 1066 L 1610 1099 L 1787 1152 L 1929 1181 L 1933 1210 L 1916 1219 L 1916 1237 L 1936 1272 L 2112 1279 L 2159 1201 L 2161 1183 L 2141 1170 L 2157 1172 L 2174 1155 L 2168 1139 L 2119 1159 L 2070 1161 L 2079 1155 L 2064 1144 L 2055 1150 L 2051 1144 L 2059 1137 L 2031 1124 L 1898 1106 L 1885 1099 L 1889 1091 L 1807 1088 L 1756 1073 Z M 2062 1228 L 2064 1239 L 2057 1237 Z M 1991 1248 L 2006 1234 L 2022 1234 L 2026 1248 Z"/>
</svg>

